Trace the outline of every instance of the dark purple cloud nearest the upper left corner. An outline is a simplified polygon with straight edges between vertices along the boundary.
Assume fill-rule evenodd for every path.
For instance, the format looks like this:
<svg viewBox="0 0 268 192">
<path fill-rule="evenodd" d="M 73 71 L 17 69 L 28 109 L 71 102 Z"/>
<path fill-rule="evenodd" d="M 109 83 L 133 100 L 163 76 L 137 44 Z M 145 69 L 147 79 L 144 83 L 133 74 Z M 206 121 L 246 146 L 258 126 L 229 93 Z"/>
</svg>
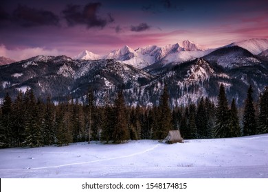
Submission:
<svg viewBox="0 0 268 192">
<path fill-rule="evenodd" d="M 59 25 L 56 14 L 47 10 L 36 10 L 25 5 L 18 5 L 12 13 L 11 19 L 23 27 L 38 27 L 43 25 Z"/>
</svg>

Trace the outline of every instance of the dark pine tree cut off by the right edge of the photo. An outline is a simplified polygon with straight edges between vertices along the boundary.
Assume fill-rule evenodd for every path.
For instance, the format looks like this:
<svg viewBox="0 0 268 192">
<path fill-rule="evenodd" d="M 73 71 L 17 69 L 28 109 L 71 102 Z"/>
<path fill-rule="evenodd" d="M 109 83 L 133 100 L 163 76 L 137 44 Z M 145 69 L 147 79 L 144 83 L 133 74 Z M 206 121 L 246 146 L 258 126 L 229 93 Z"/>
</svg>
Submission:
<svg viewBox="0 0 268 192">
<path fill-rule="evenodd" d="M 268 133 L 268 86 L 260 94 L 260 115 L 258 117 L 258 134 Z"/>
</svg>

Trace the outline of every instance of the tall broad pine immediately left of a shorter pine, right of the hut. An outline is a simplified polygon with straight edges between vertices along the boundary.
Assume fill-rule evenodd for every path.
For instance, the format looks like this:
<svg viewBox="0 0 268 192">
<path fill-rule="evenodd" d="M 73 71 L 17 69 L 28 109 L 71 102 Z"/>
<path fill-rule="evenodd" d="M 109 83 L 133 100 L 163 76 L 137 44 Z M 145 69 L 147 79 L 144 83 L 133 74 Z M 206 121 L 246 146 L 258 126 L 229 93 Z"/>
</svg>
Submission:
<svg viewBox="0 0 268 192">
<path fill-rule="evenodd" d="M 230 110 L 228 108 L 228 101 L 225 96 L 225 88 L 223 84 L 220 86 L 218 96 L 218 106 L 216 108 L 216 125 L 215 125 L 215 137 L 223 138 L 229 134 L 229 119 Z"/>
</svg>

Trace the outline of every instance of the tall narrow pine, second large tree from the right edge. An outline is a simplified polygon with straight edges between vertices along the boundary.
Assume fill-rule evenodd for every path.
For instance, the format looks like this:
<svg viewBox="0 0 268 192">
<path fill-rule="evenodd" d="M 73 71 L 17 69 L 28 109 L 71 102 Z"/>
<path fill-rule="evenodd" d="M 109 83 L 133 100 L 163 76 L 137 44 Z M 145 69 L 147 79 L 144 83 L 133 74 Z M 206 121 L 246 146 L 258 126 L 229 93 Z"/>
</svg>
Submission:
<svg viewBox="0 0 268 192">
<path fill-rule="evenodd" d="M 249 86 L 249 89 L 247 90 L 247 99 L 245 100 L 245 108 L 243 115 L 244 136 L 256 134 L 256 116 L 252 93 L 252 86 Z"/>
</svg>

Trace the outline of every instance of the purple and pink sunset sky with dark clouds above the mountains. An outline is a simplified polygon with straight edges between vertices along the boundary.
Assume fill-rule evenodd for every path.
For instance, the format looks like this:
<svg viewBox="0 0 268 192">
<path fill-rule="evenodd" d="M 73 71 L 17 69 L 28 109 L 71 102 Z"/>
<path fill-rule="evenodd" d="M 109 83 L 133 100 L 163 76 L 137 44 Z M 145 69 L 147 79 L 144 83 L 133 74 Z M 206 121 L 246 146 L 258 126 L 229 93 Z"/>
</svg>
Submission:
<svg viewBox="0 0 268 192">
<path fill-rule="evenodd" d="M 192 40 L 214 48 L 268 38 L 267 0 L 1 1 L 0 56 L 105 54 Z"/>
</svg>

